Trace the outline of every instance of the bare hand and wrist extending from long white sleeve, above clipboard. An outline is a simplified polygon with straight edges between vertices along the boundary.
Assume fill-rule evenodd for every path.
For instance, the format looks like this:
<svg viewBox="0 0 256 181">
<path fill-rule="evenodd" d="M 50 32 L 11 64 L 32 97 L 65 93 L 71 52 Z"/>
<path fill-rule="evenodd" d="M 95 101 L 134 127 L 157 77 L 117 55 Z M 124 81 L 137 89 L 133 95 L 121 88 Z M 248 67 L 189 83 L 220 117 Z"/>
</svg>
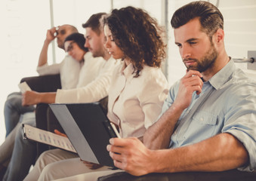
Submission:
<svg viewBox="0 0 256 181">
<path fill-rule="evenodd" d="M 35 91 L 26 91 L 23 94 L 22 105 L 30 106 L 38 103 L 55 103 L 56 92 L 39 93 Z"/>
</svg>

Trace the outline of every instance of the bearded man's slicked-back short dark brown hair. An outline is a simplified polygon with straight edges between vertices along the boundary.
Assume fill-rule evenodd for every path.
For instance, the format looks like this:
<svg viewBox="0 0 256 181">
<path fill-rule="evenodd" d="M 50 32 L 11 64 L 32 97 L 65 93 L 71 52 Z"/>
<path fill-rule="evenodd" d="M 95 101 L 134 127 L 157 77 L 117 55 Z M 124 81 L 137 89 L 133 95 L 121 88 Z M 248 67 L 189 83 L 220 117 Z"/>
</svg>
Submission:
<svg viewBox="0 0 256 181">
<path fill-rule="evenodd" d="M 219 9 L 210 2 L 190 2 L 177 9 L 171 18 L 171 26 L 177 29 L 190 20 L 199 17 L 202 31 L 211 37 L 217 29 L 224 29 L 224 17 Z"/>
</svg>

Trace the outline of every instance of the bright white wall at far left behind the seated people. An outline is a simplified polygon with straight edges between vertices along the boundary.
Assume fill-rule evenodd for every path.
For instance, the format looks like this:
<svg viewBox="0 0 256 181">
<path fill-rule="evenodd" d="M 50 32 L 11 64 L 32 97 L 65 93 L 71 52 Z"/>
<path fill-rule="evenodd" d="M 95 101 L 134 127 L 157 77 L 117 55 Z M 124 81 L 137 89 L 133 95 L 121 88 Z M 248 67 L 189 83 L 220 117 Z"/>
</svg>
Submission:
<svg viewBox="0 0 256 181">
<path fill-rule="evenodd" d="M 34 0 L 0 1 L 0 143 L 5 139 L 3 110 L 7 95 L 18 91 L 21 78 L 37 75 L 41 44 L 45 29 L 50 26 L 48 4 Z"/>
</svg>

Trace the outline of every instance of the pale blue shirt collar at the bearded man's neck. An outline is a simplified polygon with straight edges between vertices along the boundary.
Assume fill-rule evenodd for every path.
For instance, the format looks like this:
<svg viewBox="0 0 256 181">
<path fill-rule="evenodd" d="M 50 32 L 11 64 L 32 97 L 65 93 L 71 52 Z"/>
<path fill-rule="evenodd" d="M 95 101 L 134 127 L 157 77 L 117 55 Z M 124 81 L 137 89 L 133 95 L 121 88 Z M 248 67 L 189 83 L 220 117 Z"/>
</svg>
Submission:
<svg viewBox="0 0 256 181">
<path fill-rule="evenodd" d="M 235 71 L 236 66 L 232 59 L 219 72 L 212 76 L 209 80 L 210 84 L 217 90 L 220 89 L 227 81 L 230 80 Z"/>
</svg>

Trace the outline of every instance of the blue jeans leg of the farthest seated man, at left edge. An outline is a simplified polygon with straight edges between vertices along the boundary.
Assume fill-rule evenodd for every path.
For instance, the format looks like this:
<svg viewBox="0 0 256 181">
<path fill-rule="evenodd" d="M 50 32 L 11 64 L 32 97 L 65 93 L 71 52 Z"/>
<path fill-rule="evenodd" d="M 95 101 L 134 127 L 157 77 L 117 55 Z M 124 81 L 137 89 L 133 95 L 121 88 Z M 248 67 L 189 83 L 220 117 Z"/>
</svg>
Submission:
<svg viewBox="0 0 256 181">
<path fill-rule="evenodd" d="M 20 115 L 25 112 L 33 112 L 34 106 L 22 106 L 22 95 L 20 92 L 14 92 L 8 95 L 5 101 L 4 115 L 6 136 L 14 129 L 20 119 Z"/>
</svg>

